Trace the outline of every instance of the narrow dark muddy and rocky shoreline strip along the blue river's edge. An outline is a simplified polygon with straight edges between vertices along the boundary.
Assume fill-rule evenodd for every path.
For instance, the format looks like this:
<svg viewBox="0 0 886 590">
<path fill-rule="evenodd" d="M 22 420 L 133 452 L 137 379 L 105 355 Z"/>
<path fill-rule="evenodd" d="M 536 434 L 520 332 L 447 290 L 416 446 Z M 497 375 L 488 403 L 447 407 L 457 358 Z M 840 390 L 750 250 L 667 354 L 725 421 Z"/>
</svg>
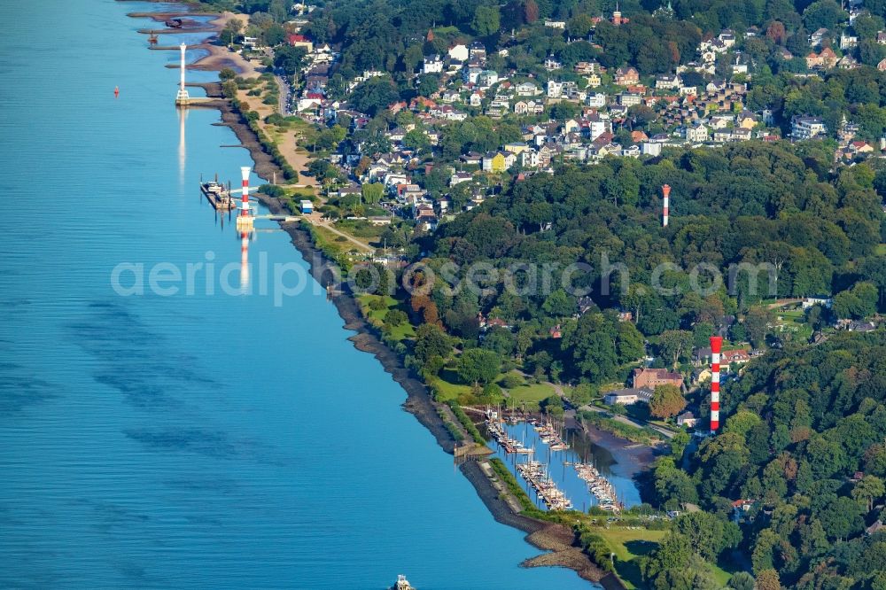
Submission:
<svg viewBox="0 0 886 590">
<path fill-rule="evenodd" d="M 186 13 L 187 12 L 183 12 L 182 14 Z M 220 18 L 214 19 L 211 22 L 214 25 L 221 22 L 221 27 L 223 27 L 223 23 L 227 22 L 227 20 L 222 20 L 222 18 Z M 218 30 L 221 30 L 221 27 L 216 27 Z M 205 44 L 208 43 L 205 42 Z M 210 49 L 209 56 L 199 59 L 197 63 L 192 64 L 189 67 L 213 70 L 231 66 L 229 62 L 225 60 L 225 57 L 237 54 L 233 54 L 217 45 L 208 44 L 208 46 L 215 48 L 215 50 L 218 51 L 213 52 L 213 50 Z M 242 60 L 242 58 L 240 59 Z M 199 68 L 197 66 L 199 66 Z M 205 88 L 207 97 L 223 98 L 220 83 L 214 82 L 193 85 Z M 229 101 L 219 100 L 215 101 L 215 103 L 216 104 L 213 106 L 219 108 L 221 111 L 221 123 L 219 124 L 230 127 L 237 135 L 237 138 L 243 147 L 250 152 L 254 162 L 253 169 L 256 175 L 259 175 L 264 179 L 269 179 L 275 174 L 282 176 L 283 171 L 276 165 L 273 159 L 263 151 L 261 144 L 259 143 L 258 138 L 254 135 L 252 129 L 245 124 L 245 120 L 242 119 L 240 114 L 233 110 Z M 278 199 L 268 198 L 260 193 L 257 195 L 257 198 L 268 207 L 271 213 L 286 213 L 284 206 Z M 299 250 L 304 260 L 307 261 L 312 276 L 323 285 L 328 283 L 328 276 L 324 273 L 324 270 L 328 268 L 330 262 L 325 259 L 322 252 L 315 248 L 310 234 L 305 229 L 302 229 L 297 222 L 281 223 L 281 227 L 290 235 L 292 244 Z M 431 393 L 425 384 L 413 376 L 409 370 L 403 366 L 402 359 L 400 359 L 400 356 L 397 353 L 394 353 L 392 349 L 381 342 L 379 335 L 377 334 L 377 329 L 364 320 L 356 300 L 350 293 L 342 293 L 333 298 L 332 302 L 336 306 L 338 314 L 345 322 L 345 329 L 356 332 L 353 336 L 348 338 L 354 343 L 354 347 L 361 352 L 372 353 L 377 358 L 385 371 L 390 373 L 393 379 L 400 384 L 404 391 L 407 392 L 407 400 L 404 402 L 403 408 L 410 414 L 416 416 L 419 423 L 422 423 L 424 427 L 431 432 L 431 435 L 436 439 L 437 443 L 444 451 L 448 454 L 452 454 L 453 449 L 455 448 L 455 440 L 449 434 L 442 419 L 439 417 L 433 401 L 431 400 Z M 618 441 L 618 439 L 616 439 L 616 441 Z M 615 441 L 610 440 L 607 442 L 611 444 Z M 626 448 L 628 445 L 630 445 L 630 443 L 625 443 L 625 441 L 621 441 L 621 443 L 615 442 L 610 449 L 619 462 L 632 456 L 632 454 L 626 453 L 630 450 Z M 602 446 L 608 445 L 603 444 Z M 622 451 L 624 451 L 624 453 Z M 643 466 L 644 458 L 641 457 L 641 454 L 639 453 L 633 455 L 631 469 L 640 470 Z M 521 565 L 524 565 L 525 567 L 566 567 L 578 572 L 579 577 L 595 581 L 607 590 L 624 588 L 621 581 L 618 580 L 616 576 L 607 574 L 597 568 L 587 554 L 580 551 L 577 547 L 572 546 L 574 535 L 569 527 L 560 524 L 550 524 L 512 512 L 508 503 L 501 499 L 499 491 L 494 485 L 492 485 L 489 477 L 486 477 L 486 474 L 480 469 L 478 462 L 463 462 L 460 466 L 460 470 L 474 486 L 479 498 L 484 502 L 496 521 L 526 532 L 527 536 L 525 539 L 527 542 L 532 544 L 533 547 L 538 547 L 550 552 L 528 559 Z"/>
</svg>

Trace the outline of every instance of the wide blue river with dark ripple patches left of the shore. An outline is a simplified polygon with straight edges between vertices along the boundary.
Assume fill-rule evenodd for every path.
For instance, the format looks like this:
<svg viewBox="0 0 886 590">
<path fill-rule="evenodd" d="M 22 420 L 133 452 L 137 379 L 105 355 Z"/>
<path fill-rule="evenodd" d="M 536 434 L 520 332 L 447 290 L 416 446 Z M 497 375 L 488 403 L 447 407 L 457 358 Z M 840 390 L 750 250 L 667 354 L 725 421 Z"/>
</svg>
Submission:
<svg viewBox="0 0 886 590">
<path fill-rule="evenodd" d="M 237 295 L 198 179 L 252 162 L 217 112 L 176 112 L 175 53 L 126 16 L 158 5 L 24 7 L 0 3 L 0 587 L 590 587 L 518 567 L 538 551 L 323 294 Z M 249 255 L 306 268 L 279 231 Z M 207 262 L 192 292 L 148 288 Z"/>
</svg>

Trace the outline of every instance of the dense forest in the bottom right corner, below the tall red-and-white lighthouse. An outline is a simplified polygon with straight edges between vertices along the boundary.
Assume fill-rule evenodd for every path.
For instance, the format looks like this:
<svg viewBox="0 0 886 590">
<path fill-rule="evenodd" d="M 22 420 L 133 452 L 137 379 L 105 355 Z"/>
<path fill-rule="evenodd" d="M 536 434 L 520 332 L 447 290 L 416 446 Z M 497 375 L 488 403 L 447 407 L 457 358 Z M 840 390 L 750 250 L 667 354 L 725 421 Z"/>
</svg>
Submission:
<svg viewBox="0 0 886 590">
<path fill-rule="evenodd" d="M 886 334 L 771 351 L 727 387 L 724 408 L 726 428 L 686 451 L 688 470 L 677 467 L 680 448 L 657 463 L 657 500 L 698 503 L 705 514 L 649 557 L 652 585 L 698 587 L 693 556 L 716 559 L 737 546 L 758 583 L 763 575 L 810 590 L 886 587 L 886 531 L 864 534 L 884 517 Z M 760 501 L 736 537 L 732 502 L 749 498 Z"/>
</svg>

